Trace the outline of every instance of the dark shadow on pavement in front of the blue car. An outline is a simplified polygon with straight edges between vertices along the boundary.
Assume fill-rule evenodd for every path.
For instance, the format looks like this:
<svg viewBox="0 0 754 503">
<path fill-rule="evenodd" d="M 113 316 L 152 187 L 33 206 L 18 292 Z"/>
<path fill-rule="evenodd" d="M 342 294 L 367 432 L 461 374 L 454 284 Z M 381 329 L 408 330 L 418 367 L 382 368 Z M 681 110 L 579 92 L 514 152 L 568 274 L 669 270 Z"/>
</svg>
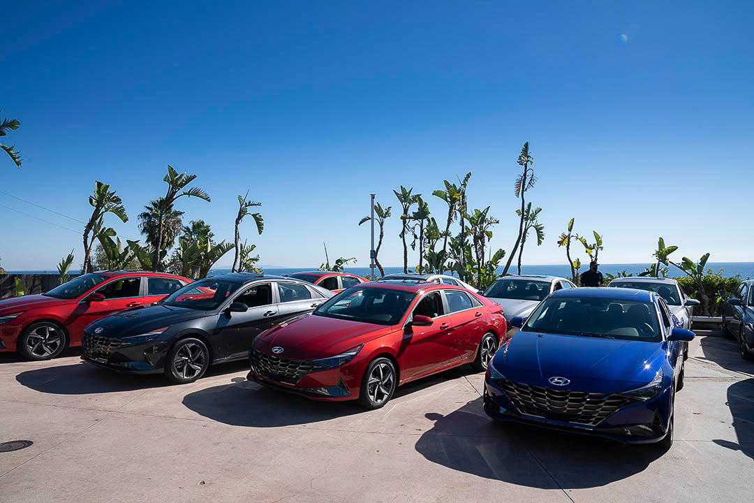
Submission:
<svg viewBox="0 0 754 503">
<path fill-rule="evenodd" d="M 662 455 L 656 446 L 628 446 L 599 438 L 489 419 L 482 398 L 435 422 L 415 449 L 428 461 L 492 480 L 539 489 L 604 486 L 645 470 Z"/>
</svg>

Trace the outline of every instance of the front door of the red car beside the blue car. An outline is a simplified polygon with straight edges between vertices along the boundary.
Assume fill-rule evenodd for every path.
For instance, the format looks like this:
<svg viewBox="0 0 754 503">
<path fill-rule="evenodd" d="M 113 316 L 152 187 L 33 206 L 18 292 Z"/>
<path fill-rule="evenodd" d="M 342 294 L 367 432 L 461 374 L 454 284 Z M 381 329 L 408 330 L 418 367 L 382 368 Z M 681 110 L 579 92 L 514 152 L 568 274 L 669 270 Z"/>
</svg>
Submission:
<svg viewBox="0 0 754 503">
<path fill-rule="evenodd" d="M 412 315 L 415 314 L 430 317 L 432 324 L 428 327 L 409 326 L 404 330 L 398 366 L 405 379 L 425 376 L 450 360 L 453 323 L 440 291 L 426 293 L 418 299 L 412 311 Z"/>
</svg>

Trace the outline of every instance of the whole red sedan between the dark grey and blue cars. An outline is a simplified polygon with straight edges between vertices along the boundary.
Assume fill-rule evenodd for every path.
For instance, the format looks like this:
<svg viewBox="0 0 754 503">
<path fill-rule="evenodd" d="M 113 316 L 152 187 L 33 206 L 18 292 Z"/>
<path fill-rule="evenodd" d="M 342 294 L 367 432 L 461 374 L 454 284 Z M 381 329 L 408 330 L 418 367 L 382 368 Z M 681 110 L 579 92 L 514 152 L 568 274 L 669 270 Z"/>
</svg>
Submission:
<svg viewBox="0 0 754 503">
<path fill-rule="evenodd" d="M 486 370 L 506 329 L 499 304 L 461 287 L 360 284 L 259 334 L 247 379 L 377 409 L 406 382 L 464 363 Z"/>
</svg>

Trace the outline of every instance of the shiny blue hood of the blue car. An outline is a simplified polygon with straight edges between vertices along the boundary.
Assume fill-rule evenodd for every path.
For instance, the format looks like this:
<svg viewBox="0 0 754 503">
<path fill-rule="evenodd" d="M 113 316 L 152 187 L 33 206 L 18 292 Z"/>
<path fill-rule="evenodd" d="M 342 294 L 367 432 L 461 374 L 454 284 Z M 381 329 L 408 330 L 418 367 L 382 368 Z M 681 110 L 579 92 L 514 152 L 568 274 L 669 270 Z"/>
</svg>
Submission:
<svg viewBox="0 0 754 503">
<path fill-rule="evenodd" d="M 495 354 L 493 365 L 507 379 L 529 373 L 523 382 L 538 376 L 538 384 L 547 386 L 555 376 L 570 379 L 573 389 L 579 384 L 590 389 L 594 381 L 644 385 L 659 370 L 664 351 L 661 342 L 519 331 Z"/>
</svg>

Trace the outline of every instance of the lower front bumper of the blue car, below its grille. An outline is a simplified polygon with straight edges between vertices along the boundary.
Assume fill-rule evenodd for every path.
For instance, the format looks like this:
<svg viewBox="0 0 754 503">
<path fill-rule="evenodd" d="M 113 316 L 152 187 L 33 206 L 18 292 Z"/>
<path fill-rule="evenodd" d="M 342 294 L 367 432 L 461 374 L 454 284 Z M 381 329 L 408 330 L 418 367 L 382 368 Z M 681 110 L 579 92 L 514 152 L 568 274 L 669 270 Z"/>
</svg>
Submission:
<svg viewBox="0 0 754 503">
<path fill-rule="evenodd" d="M 501 387 L 489 376 L 485 379 L 484 411 L 496 421 L 517 422 L 538 428 L 586 434 L 622 443 L 655 443 L 667 434 L 670 418 L 670 391 L 664 389 L 651 400 L 632 403 L 612 413 L 597 425 L 567 422 L 554 417 L 520 413 Z"/>
</svg>

